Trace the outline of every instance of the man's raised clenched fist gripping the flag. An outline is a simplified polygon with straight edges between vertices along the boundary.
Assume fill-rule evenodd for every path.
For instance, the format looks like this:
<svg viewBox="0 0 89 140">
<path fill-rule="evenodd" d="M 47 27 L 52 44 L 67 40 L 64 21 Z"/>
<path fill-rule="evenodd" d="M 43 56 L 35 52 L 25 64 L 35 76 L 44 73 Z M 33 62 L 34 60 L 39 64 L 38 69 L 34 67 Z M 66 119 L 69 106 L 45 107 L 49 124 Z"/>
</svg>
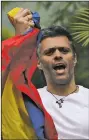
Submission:
<svg viewBox="0 0 89 140">
<path fill-rule="evenodd" d="M 15 28 L 16 35 L 22 34 L 31 27 L 34 27 L 31 11 L 28 9 L 21 8 L 20 11 L 14 17 L 12 24 Z"/>
</svg>

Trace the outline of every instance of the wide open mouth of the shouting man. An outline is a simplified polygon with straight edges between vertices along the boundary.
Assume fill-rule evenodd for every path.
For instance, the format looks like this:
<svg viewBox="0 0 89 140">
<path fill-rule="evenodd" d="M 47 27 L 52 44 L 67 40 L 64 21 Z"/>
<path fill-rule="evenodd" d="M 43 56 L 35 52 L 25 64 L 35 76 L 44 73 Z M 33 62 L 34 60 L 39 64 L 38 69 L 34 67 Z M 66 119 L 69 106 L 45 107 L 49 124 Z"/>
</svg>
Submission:
<svg viewBox="0 0 89 140">
<path fill-rule="evenodd" d="M 59 63 L 59 64 L 56 64 L 53 66 L 53 69 L 57 72 L 57 73 L 64 73 L 65 71 L 65 68 L 66 68 L 66 65 L 63 64 L 63 63 Z"/>
</svg>

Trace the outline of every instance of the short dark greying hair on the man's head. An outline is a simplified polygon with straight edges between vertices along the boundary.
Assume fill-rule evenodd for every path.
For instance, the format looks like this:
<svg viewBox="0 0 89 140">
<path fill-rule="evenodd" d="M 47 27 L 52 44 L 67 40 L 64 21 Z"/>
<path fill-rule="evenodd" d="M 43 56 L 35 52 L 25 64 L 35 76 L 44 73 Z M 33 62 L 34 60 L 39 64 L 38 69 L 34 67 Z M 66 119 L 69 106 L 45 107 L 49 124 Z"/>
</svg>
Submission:
<svg viewBox="0 0 89 140">
<path fill-rule="evenodd" d="M 72 35 L 70 34 L 69 31 L 67 31 L 66 28 L 64 28 L 62 26 L 53 25 L 48 28 L 41 29 L 41 31 L 38 35 L 38 44 L 41 43 L 41 41 L 44 40 L 45 38 L 56 37 L 56 36 L 66 36 L 69 39 L 69 41 L 71 42 L 71 47 L 72 47 L 73 53 L 74 54 L 76 53 Z M 37 53 L 37 56 L 38 56 L 38 53 Z"/>
</svg>

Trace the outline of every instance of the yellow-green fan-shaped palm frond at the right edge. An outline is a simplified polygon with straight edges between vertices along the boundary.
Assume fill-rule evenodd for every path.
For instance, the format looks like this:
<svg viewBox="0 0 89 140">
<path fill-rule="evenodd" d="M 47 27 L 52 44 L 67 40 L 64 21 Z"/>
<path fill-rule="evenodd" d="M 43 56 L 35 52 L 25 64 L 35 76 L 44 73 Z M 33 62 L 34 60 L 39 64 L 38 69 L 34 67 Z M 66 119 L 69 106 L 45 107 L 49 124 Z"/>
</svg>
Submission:
<svg viewBox="0 0 89 140">
<path fill-rule="evenodd" d="M 82 43 L 83 47 L 89 47 L 89 9 L 83 8 L 76 12 L 71 23 L 74 39 Z"/>
</svg>

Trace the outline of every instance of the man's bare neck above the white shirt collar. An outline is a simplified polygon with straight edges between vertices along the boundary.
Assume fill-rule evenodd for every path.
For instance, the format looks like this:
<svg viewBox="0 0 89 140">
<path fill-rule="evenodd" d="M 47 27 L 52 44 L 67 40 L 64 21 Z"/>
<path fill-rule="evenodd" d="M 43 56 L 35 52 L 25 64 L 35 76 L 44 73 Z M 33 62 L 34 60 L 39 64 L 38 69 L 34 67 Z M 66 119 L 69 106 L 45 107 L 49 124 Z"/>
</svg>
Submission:
<svg viewBox="0 0 89 140">
<path fill-rule="evenodd" d="M 77 92 L 78 88 L 75 84 L 75 81 L 72 80 L 70 83 L 66 85 L 60 85 L 60 84 L 48 84 L 47 90 L 51 92 L 52 94 L 60 95 L 60 96 L 67 96 L 71 94 L 72 92 Z"/>
</svg>

